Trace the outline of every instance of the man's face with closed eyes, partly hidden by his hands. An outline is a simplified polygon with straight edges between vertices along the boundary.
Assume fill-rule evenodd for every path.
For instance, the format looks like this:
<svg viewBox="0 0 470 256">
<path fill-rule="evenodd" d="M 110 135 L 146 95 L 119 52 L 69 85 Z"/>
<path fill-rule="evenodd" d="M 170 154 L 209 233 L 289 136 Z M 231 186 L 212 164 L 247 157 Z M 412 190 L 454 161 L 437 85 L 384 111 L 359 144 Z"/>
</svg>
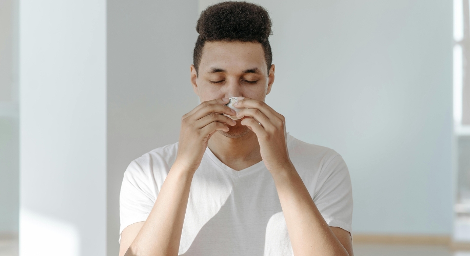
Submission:
<svg viewBox="0 0 470 256">
<path fill-rule="evenodd" d="M 201 102 L 231 97 L 248 97 L 264 101 L 274 82 L 274 65 L 269 73 L 264 51 L 259 42 L 206 42 L 199 72 L 191 65 L 191 82 Z M 229 138 L 239 138 L 250 130 L 241 125 L 230 126 Z"/>
</svg>

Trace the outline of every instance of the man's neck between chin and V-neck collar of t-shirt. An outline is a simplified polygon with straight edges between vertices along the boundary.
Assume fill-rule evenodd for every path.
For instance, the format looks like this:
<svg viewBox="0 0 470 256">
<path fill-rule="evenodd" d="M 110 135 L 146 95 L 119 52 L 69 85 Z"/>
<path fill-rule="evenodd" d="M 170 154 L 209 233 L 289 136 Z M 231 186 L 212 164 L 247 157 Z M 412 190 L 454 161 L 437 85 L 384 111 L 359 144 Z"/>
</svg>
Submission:
<svg viewBox="0 0 470 256">
<path fill-rule="evenodd" d="M 234 170 L 245 169 L 262 160 L 258 138 L 252 131 L 240 138 L 228 138 L 217 132 L 207 146 L 221 162 Z"/>
</svg>

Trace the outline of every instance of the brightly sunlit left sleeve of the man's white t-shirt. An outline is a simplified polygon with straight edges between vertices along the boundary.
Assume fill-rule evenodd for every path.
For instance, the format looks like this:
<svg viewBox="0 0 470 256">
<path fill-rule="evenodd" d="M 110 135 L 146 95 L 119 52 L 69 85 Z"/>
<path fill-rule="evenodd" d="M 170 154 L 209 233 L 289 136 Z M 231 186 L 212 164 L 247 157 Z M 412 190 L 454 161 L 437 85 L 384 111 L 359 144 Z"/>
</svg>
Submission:
<svg viewBox="0 0 470 256">
<path fill-rule="evenodd" d="M 127 226 L 147 220 L 158 191 L 149 183 L 153 180 L 151 174 L 145 173 L 137 161 L 132 161 L 124 173 L 119 199 L 121 233 Z"/>
</svg>

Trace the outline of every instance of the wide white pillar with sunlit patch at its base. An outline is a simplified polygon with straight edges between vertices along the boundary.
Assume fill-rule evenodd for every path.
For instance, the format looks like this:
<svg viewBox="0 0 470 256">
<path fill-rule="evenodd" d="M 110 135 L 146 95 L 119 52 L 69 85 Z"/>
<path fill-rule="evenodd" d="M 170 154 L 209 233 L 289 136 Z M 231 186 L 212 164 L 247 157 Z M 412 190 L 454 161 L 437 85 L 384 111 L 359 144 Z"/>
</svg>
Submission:
<svg viewBox="0 0 470 256">
<path fill-rule="evenodd" d="M 20 255 L 104 255 L 106 1 L 19 16 Z"/>
</svg>

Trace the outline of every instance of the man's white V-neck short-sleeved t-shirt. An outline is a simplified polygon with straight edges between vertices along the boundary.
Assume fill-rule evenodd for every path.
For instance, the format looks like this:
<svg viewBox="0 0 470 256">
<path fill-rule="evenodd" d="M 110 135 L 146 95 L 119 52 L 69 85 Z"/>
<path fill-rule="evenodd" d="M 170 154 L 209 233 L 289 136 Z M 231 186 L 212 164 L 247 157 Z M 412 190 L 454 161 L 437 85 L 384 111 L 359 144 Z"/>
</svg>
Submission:
<svg viewBox="0 0 470 256">
<path fill-rule="evenodd" d="M 351 232 L 353 194 L 343 158 L 290 135 L 287 147 L 328 225 Z M 167 145 L 130 163 L 121 187 L 120 234 L 147 219 L 177 151 L 178 143 Z M 206 149 L 191 183 L 179 255 L 293 255 L 276 186 L 263 161 L 237 171 Z"/>
</svg>

